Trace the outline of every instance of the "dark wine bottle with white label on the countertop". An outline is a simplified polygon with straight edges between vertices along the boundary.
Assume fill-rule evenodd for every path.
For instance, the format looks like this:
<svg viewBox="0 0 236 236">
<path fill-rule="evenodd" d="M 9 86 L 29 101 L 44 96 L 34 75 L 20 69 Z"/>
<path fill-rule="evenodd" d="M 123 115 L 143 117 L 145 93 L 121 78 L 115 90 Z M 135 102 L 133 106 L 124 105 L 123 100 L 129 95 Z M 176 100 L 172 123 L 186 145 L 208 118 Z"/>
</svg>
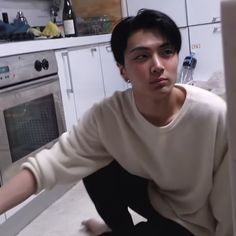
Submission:
<svg viewBox="0 0 236 236">
<path fill-rule="evenodd" d="M 70 0 L 64 0 L 63 25 L 65 37 L 76 36 L 75 15 Z"/>
</svg>

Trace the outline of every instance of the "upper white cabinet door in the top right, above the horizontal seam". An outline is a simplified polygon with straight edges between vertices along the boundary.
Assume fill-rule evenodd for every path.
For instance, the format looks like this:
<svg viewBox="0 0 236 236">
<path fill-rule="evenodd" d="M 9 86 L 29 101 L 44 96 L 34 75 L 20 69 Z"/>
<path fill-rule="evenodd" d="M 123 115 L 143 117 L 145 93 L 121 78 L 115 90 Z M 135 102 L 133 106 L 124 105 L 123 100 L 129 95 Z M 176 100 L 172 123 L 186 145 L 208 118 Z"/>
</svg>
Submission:
<svg viewBox="0 0 236 236">
<path fill-rule="evenodd" d="M 221 0 L 186 0 L 188 24 L 216 23 L 220 21 Z"/>
</svg>

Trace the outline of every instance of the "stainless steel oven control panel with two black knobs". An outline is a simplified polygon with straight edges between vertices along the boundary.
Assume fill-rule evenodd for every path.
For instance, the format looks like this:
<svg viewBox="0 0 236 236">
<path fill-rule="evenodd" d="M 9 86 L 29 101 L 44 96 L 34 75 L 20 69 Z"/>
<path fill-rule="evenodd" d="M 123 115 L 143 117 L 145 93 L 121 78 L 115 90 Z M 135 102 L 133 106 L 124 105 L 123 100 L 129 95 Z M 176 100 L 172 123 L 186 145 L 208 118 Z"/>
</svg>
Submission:
<svg viewBox="0 0 236 236">
<path fill-rule="evenodd" d="M 52 50 L 0 58 L 0 88 L 57 73 Z"/>
</svg>

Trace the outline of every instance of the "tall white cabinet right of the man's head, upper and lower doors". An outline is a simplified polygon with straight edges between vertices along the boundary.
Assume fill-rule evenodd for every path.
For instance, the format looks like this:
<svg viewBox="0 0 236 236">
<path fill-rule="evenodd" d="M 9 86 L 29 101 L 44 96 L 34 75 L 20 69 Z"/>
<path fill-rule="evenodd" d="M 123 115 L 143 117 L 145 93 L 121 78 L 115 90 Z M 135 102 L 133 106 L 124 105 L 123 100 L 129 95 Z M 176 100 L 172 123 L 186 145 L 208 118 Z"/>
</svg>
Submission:
<svg viewBox="0 0 236 236">
<path fill-rule="evenodd" d="M 194 80 L 221 79 L 224 70 L 220 24 L 221 0 L 186 0 L 186 3 L 190 51 L 197 59 Z"/>
</svg>

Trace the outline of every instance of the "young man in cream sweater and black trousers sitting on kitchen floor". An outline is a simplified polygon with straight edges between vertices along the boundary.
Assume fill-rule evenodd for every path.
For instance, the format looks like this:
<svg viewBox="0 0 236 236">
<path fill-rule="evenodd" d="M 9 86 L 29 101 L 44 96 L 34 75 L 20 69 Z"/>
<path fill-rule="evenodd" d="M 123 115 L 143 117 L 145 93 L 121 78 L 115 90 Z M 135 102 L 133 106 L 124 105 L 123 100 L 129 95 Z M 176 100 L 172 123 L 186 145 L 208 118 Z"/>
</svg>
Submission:
<svg viewBox="0 0 236 236">
<path fill-rule="evenodd" d="M 0 213 L 84 178 L 111 230 L 101 235 L 232 236 L 226 105 L 175 84 L 176 24 L 142 10 L 115 27 L 111 45 L 132 89 L 94 105 L 53 148 L 30 157 L 2 187 Z M 134 226 L 127 207 L 147 221 Z"/>
</svg>

